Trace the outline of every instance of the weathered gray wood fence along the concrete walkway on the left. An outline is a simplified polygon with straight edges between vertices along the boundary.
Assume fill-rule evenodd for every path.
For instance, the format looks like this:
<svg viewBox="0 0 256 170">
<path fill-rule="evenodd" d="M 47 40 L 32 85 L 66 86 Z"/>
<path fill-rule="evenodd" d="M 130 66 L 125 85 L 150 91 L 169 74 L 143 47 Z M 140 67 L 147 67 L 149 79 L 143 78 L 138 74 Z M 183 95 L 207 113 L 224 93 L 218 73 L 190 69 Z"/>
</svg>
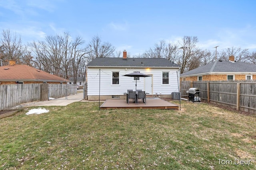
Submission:
<svg viewBox="0 0 256 170">
<path fill-rule="evenodd" d="M 0 85 L 0 110 L 76 93 L 76 84 L 4 84 Z"/>
</svg>

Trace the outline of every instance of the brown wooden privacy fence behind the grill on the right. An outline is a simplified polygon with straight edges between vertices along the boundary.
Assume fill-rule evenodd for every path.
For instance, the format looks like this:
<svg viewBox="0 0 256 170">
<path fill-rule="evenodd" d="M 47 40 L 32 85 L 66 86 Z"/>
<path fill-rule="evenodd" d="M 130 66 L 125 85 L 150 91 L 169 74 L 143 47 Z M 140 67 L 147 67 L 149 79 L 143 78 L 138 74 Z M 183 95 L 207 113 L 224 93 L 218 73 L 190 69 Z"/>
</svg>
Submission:
<svg viewBox="0 0 256 170">
<path fill-rule="evenodd" d="M 188 97 L 192 87 L 199 88 L 201 100 L 256 113 L 256 82 L 181 82 L 181 96 Z"/>
</svg>

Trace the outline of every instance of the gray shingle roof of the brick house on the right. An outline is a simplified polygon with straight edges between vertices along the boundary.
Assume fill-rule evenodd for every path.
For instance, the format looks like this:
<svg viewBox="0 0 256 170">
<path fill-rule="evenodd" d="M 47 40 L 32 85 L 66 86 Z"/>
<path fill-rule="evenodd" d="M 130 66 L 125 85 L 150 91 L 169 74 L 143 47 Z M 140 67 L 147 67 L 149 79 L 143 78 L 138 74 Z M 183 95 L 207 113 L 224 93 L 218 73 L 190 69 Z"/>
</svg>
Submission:
<svg viewBox="0 0 256 170">
<path fill-rule="evenodd" d="M 193 76 L 211 73 L 256 73 L 256 64 L 231 62 L 231 61 L 215 61 L 204 66 L 200 66 L 188 72 L 180 74 L 180 76 Z"/>
</svg>

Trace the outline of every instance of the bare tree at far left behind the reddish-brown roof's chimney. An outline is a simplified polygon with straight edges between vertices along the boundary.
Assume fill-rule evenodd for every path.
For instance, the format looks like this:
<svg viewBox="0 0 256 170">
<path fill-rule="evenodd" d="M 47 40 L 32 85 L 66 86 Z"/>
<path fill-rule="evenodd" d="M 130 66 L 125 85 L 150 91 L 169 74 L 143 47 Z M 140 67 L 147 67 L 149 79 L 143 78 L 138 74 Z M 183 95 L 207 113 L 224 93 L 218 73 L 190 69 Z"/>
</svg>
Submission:
<svg viewBox="0 0 256 170">
<path fill-rule="evenodd" d="M 20 36 L 16 33 L 10 33 L 10 30 L 3 30 L 2 37 L 0 39 L 1 44 L 1 59 L 4 64 L 8 64 L 8 60 L 16 60 L 17 63 L 22 63 L 22 54 L 26 50 L 22 46 Z"/>
</svg>

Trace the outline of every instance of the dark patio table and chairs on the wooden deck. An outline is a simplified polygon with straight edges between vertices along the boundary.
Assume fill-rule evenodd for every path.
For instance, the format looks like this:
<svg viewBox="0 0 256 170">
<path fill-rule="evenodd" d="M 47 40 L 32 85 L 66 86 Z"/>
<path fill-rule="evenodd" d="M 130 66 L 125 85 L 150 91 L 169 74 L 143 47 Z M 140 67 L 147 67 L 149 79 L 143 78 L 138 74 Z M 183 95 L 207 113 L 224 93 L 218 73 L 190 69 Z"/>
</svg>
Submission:
<svg viewBox="0 0 256 170">
<path fill-rule="evenodd" d="M 142 102 L 144 104 L 146 104 L 146 94 L 149 94 L 145 91 L 142 91 L 142 90 L 136 90 L 136 91 L 133 91 L 133 90 L 127 90 L 127 92 L 124 92 L 124 94 L 126 94 L 126 103 L 129 104 L 129 99 L 132 99 L 135 104 L 138 104 L 139 103 L 139 99 L 142 100 Z"/>
</svg>

